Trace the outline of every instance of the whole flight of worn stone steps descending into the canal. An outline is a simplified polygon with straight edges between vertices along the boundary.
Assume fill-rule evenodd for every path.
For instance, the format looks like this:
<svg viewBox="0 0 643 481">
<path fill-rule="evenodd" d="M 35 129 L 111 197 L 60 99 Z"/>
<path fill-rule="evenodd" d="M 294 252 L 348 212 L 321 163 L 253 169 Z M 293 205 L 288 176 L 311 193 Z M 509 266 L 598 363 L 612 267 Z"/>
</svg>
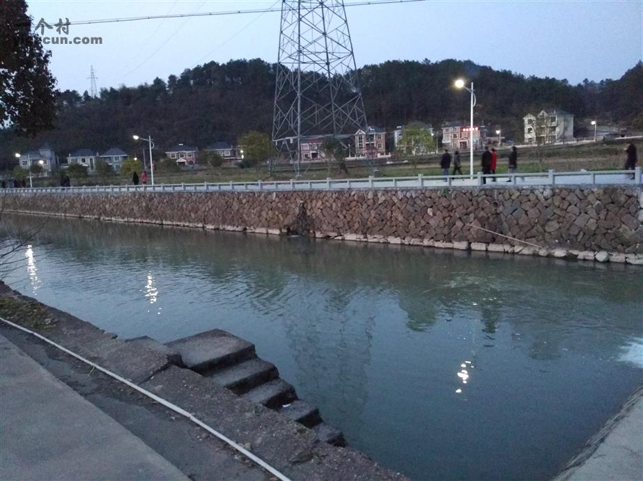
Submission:
<svg viewBox="0 0 643 481">
<path fill-rule="evenodd" d="M 169 342 L 143 337 L 130 340 L 172 356 L 178 365 L 210 377 L 238 396 L 279 411 L 313 429 L 320 441 L 342 446 L 339 429 L 323 422 L 319 410 L 297 398 L 295 388 L 279 377 L 277 367 L 258 358 L 251 342 L 220 329 Z"/>
</svg>

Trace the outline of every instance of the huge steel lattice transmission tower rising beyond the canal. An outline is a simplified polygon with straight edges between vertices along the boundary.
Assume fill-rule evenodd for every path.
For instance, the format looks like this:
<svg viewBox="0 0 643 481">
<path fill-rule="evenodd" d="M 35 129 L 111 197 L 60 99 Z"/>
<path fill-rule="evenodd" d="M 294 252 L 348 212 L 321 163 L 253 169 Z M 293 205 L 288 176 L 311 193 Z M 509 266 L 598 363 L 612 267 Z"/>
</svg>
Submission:
<svg viewBox="0 0 643 481">
<path fill-rule="evenodd" d="M 302 140 L 366 127 L 343 0 L 282 0 L 272 141 L 299 174 Z"/>
</svg>

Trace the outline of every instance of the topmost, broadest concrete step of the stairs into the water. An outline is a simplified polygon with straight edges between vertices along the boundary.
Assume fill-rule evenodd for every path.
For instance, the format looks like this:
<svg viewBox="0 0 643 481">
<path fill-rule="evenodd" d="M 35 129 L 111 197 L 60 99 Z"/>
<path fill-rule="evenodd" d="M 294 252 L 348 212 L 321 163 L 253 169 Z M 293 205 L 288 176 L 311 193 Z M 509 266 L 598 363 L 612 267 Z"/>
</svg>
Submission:
<svg viewBox="0 0 643 481">
<path fill-rule="evenodd" d="M 202 373 L 256 358 L 254 344 L 221 329 L 168 342 L 189 369 Z"/>
</svg>

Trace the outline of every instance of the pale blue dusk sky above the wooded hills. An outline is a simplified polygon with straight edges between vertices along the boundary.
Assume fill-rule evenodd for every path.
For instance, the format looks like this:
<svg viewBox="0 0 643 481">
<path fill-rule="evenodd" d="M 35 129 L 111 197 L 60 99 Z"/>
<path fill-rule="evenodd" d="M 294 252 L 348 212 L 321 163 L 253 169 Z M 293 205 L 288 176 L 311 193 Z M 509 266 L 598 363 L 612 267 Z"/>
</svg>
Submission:
<svg viewBox="0 0 643 481">
<path fill-rule="evenodd" d="M 346 0 L 349 3 L 350 0 Z M 279 7 L 280 0 L 31 0 L 35 23 Z M 497 70 L 617 79 L 643 58 L 643 0 L 511 0 L 347 7 L 358 67 L 387 60 L 471 60 Z M 53 32 L 55 36 L 55 30 Z M 52 35 L 47 33 L 45 35 Z M 64 36 L 64 34 L 63 34 Z M 279 13 L 71 25 L 102 45 L 49 45 L 62 90 L 151 83 L 208 61 L 277 61 Z"/>
</svg>

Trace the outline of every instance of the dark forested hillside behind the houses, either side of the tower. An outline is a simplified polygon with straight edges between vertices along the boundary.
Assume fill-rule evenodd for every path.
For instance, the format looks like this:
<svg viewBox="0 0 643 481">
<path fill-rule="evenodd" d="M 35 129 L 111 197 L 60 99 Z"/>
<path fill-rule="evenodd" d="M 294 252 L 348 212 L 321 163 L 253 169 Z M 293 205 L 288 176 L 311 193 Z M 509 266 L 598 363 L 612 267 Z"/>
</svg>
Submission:
<svg viewBox="0 0 643 481">
<path fill-rule="evenodd" d="M 440 125 L 469 118 L 469 95 L 453 88 L 454 79 L 474 81 L 478 122 L 502 127 L 521 139 L 522 116 L 559 107 L 577 119 L 598 118 L 643 127 L 643 63 L 618 80 L 584 81 L 524 77 L 470 61 L 387 61 L 360 69 L 366 115 L 371 125 L 391 129 L 411 120 Z M 212 141 L 234 142 L 249 130 L 271 133 L 274 65 L 259 59 L 200 65 L 167 80 L 135 88 L 107 88 L 100 98 L 74 91 L 58 98 L 56 127 L 24 139 L 0 132 L 0 159 L 47 141 L 66 156 L 77 148 L 111 146 L 133 152 L 141 144 L 132 134 L 151 134 L 160 148 L 176 143 L 204 147 Z"/>
</svg>

